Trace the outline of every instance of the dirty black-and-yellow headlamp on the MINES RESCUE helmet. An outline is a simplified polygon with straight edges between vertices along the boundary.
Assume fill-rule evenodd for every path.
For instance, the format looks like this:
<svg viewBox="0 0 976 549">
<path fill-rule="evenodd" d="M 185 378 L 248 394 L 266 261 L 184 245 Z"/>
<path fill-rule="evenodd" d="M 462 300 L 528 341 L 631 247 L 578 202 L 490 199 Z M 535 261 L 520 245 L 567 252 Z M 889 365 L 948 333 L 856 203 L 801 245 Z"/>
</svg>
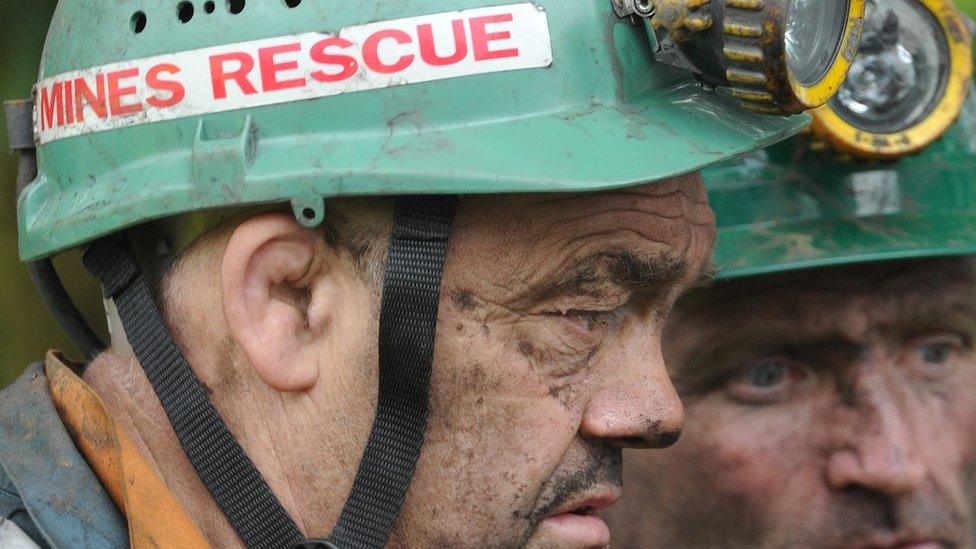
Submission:
<svg viewBox="0 0 976 549">
<path fill-rule="evenodd" d="M 613 0 L 649 20 L 658 60 L 732 89 L 746 108 L 795 114 L 840 89 L 865 0 Z"/>
</svg>

